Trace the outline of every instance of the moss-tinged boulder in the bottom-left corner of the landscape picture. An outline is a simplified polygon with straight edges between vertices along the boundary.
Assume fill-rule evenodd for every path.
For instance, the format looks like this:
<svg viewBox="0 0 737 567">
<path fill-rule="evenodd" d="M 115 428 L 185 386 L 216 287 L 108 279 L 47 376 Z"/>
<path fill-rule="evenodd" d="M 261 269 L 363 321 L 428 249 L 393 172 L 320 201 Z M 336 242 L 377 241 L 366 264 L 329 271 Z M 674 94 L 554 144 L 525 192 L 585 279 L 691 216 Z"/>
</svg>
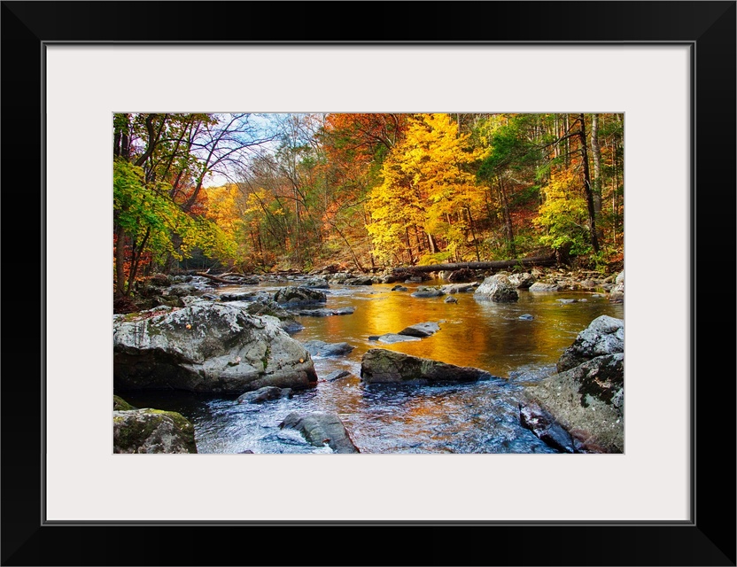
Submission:
<svg viewBox="0 0 737 567">
<path fill-rule="evenodd" d="M 197 453 L 195 429 L 181 414 L 160 409 L 112 412 L 113 453 Z"/>
</svg>

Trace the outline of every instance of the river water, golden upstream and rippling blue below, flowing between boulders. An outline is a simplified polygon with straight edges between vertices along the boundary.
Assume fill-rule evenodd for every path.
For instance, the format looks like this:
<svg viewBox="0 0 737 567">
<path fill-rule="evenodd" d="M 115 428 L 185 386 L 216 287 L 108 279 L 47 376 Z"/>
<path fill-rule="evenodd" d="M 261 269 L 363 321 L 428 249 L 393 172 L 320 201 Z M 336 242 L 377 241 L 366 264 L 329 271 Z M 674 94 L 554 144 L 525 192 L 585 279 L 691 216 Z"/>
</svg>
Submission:
<svg viewBox="0 0 737 567">
<path fill-rule="evenodd" d="M 411 297 L 416 284 L 406 284 L 408 291 L 391 291 L 392 285 L 332 285 L 322 290 L 328 303 L 321 307 L 355 307 L 352 315 L 297 317 L 305 329 L 293 338 L 347 342 L 355 348 L 343 356 L 314 357 L 321 380 L 291 399 L 238 404 L 236 396 L 188 392 L 125 392 L 123 398 L 139 408 L 174 410 L 189 418 L 199 453 L 330 453 L 329 447 L 309 445 L 296 431 L 279 429 L 292 411 L 337 413 L 361 453 L 555 453 L 519 424 L 517 403 L 524 384 L 554 372 L 562 351 L 599 315 L 624 318 L 622 304 L 588 292 L 520 291 L 519 301 L 506 304 L 459 293 L 454 296 L 458 303 L 445 303 L 445 297 Z M 275 289 L 261 284 L 219 291 Z M 440 330 L 392 345 L 369 340 L 418 322 L 438 322 Z M 363 384 L 361 356 L 376 347 L 485 369 L 498 378 L 434 386 Z M 351 374 L 322 379 L 336 369 Z"/>
</svg>

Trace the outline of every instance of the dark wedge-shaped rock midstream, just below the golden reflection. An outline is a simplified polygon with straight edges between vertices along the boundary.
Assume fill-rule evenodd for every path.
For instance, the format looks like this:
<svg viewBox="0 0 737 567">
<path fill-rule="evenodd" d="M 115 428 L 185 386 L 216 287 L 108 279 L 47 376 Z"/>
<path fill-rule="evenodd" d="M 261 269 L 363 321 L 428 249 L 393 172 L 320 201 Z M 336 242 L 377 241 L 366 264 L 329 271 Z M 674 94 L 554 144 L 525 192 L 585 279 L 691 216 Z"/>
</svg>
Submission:
<svg viewBox="0 0 737 567">
<path fill-rule="evenodd" d="M 482 369 L 372 348 L 361 359 L 361 380 L 367 384 L 477 382 L 493 376 Z"/>
</svg>

